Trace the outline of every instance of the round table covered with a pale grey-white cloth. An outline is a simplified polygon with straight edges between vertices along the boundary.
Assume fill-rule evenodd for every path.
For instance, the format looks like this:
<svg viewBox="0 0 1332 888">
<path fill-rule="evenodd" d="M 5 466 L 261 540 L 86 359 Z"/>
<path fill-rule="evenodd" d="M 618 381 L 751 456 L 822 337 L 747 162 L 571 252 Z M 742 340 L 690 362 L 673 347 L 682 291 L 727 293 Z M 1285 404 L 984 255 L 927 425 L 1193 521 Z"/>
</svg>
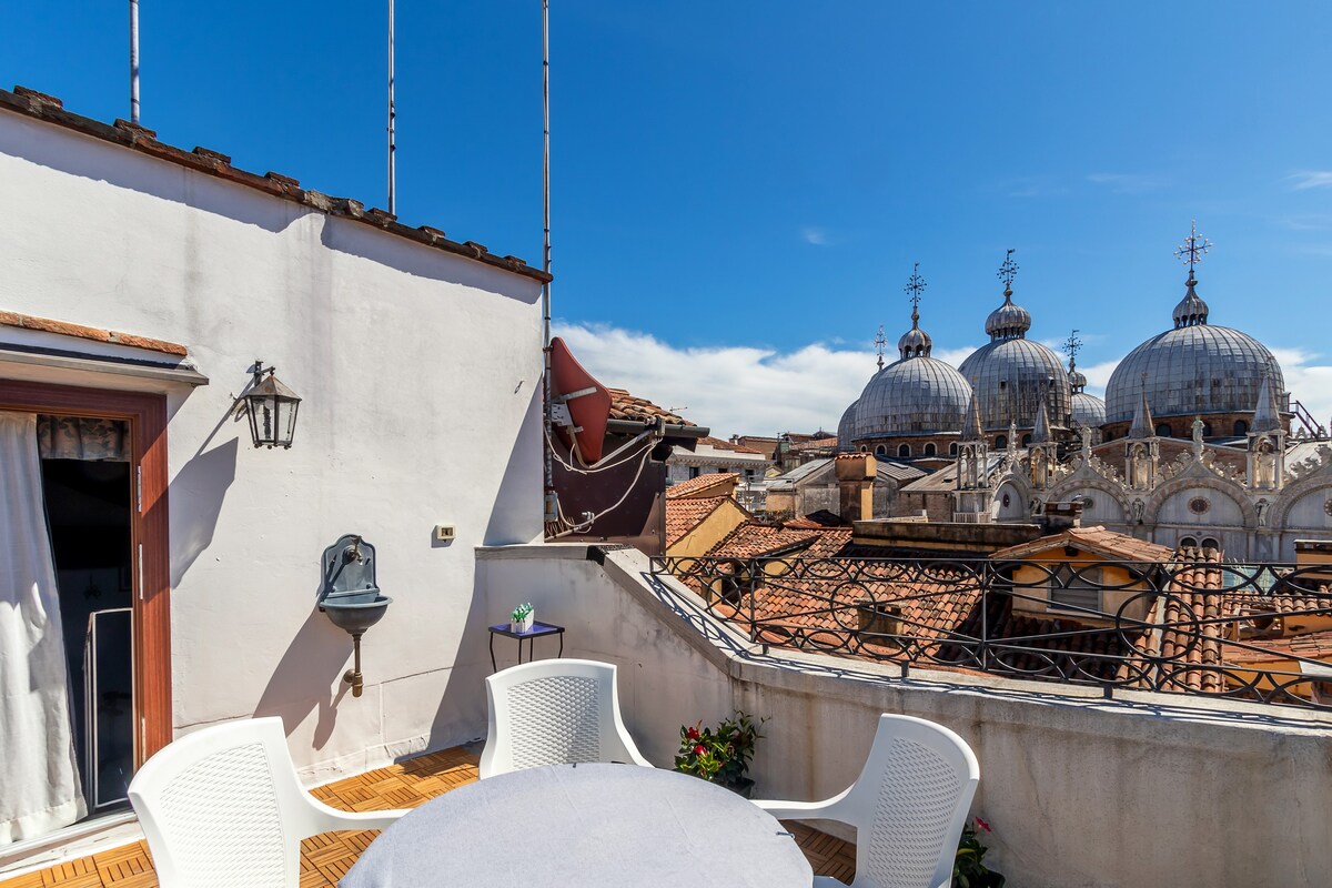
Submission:
<svg viewBox="0 0 1332 888">
<path fill-rule="evenodd" d="M 559 764 L 444 793 L 384 831 L 341 888 L 810 888 L 770 813 L 698 777 Z"/>
</svg>

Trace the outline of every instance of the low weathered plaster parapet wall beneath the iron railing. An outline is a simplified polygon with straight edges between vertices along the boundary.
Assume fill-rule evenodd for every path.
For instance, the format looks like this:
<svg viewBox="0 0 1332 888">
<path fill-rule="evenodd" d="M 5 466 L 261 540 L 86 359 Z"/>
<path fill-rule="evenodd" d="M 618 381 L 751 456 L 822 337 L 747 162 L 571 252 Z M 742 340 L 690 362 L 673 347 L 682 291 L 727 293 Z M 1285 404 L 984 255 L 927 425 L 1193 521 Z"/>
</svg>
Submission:
<svg viewBox="0 0 1332 888">
<path fill-rule="evenodd" d="M 602 568 L 581 547 L 514 547 L 482 553 L 480 567 L 492 616 L 530 599 L 541 619 L 569 627 L 566 656 L 619 664 L 625 720 L 658 766 L 671 764 L 681 724 L 742 707 L 770 719 L 759 793 L 826 797 L 855 779 L 878 714 L 903 712 L 975 750 L 974 812 L 994 827 L 990 859 L 1011 885 L 1332 881 L 1325 715 L 763 656 L 701 618 L 674 583 L 654 584 L 637 553 L 611 553 Z"/>
</svg>

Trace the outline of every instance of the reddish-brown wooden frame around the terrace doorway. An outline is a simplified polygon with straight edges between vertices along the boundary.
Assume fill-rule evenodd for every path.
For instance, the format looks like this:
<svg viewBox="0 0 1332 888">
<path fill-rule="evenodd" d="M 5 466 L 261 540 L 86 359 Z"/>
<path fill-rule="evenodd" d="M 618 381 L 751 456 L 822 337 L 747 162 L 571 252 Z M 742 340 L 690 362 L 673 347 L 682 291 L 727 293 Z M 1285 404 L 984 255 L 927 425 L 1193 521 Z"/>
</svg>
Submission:
<svg viewBox="0 0 1332 888">
<path fill-rule="evenodd" d="M 166 395 L 0 378 L 0 410 L 124 419 L 129 423 L 137 767 L 172 740 Z"/>
</svg>

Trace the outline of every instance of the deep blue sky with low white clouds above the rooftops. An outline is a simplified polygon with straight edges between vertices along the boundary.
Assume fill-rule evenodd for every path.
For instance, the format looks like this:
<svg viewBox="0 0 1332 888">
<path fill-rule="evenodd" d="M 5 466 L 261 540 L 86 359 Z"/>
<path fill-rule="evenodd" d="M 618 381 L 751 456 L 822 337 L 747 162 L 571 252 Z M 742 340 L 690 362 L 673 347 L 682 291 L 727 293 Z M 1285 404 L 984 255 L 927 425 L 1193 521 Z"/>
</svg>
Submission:
<svg viewBox="0 0 1332 888">
<path fill-rule="evenodd" d="M 5 4 L 0 83 L 128 116 L 127 5 Z M 143 0 L 143 122 L 384 205 L 384 0 Z M 398 214 L 541 257 L 538 0 L 397 0 Z M 1332 413 L 1332 5 L 555 0 L 555 314 L 718 431 L 835 425 L 879 324 L 960 361 L 1006 248 L 1032 338 L 1103 383 L 1212 321 Z"/>
</svg>

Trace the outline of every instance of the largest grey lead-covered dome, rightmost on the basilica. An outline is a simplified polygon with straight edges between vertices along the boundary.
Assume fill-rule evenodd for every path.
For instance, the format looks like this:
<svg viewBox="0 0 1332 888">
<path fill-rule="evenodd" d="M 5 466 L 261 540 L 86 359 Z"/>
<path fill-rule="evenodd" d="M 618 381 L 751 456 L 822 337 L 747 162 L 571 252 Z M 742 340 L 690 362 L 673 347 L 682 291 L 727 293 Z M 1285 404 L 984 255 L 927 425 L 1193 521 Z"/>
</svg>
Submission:
<svg viewBox="0 0 1332 888">
<path fill-rule="evenodd" d="M 1251 413 L 1268 374 L 1273 389 L 1284 391 L 1281 367 L 1261 342 L 1207 322 L 1196 285 L 1191 274 L 1175 306 L 1175 329 L 1143 342 L 1115 367 L 1106 386 L 1106 422 L 1132 419 L 1144 390 L 1154 417 Z"/>
</svg>

